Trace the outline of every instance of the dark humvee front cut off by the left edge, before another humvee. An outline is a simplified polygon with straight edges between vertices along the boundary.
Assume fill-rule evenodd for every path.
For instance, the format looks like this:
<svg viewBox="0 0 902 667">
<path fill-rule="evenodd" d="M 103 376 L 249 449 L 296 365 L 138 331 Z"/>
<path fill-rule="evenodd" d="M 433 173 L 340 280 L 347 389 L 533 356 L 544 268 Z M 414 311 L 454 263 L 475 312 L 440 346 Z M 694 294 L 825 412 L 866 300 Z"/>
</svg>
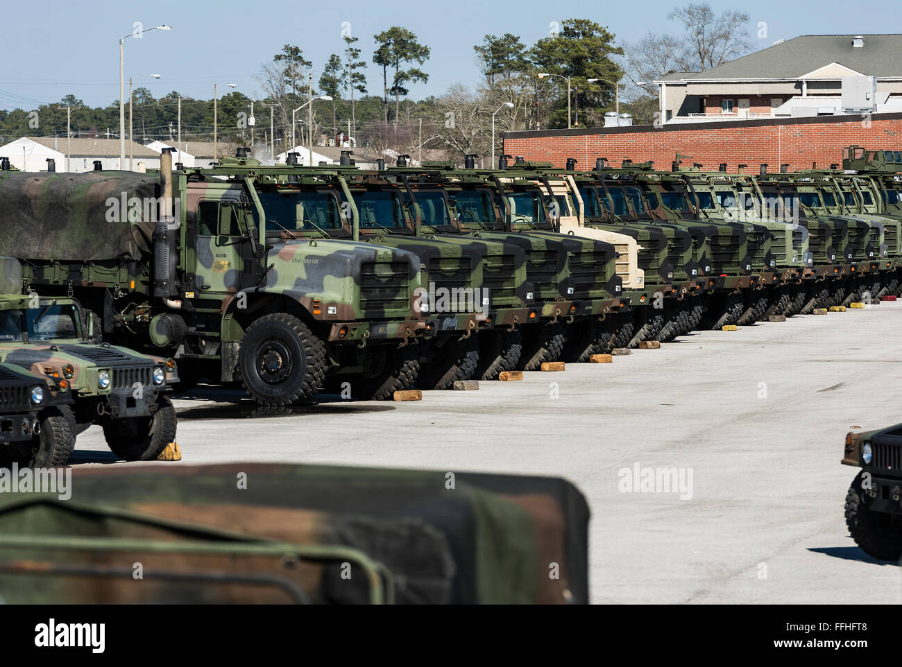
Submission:
<svg viewBox="0 0 902 667">
<path fill-rule="evenodd" d="M 6 334 L 0 334 L 4 341 Z M 0 363 L 0 467 L 64 465 L 75 446 L 69 380 Z"/>
</svg>

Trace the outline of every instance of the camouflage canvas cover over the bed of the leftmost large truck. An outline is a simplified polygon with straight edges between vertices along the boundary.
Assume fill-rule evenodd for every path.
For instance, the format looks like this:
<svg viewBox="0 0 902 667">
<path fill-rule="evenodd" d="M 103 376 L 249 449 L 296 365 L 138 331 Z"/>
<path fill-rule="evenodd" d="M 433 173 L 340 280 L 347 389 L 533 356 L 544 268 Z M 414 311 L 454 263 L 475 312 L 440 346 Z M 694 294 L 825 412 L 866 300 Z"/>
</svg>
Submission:
<svg viewBox="0 0 902 667">
<path fill-rule="evenodd" d="M 151 248 L 158 178 L 130 172 L 0 176 L 0 255 L 140 259 Z"/>
</svg>

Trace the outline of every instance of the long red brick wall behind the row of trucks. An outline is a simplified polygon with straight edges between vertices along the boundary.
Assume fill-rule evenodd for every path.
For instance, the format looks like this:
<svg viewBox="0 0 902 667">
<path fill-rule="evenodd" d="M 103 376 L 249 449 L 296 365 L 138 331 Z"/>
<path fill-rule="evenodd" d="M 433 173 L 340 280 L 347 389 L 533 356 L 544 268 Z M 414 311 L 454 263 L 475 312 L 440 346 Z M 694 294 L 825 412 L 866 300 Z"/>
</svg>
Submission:
<svg viewBox="0 0 902 667">
<path fill-rule="evenodd" d="M 902 114 L 829 115 L 807 118 L 755 119 L 721 123 L 665 124 L 578 130 L 505 132 L 504 152 L 528 160 L 552 161 L 563 167 L 567 158 L 578 160 L 577 169 L 592 169 L 596 158 L 612 165 L 621 160 L 654 160 L 658 169 L 669 169 L 676 152 L 692 156 L 704 169 L 728 170 L 748 164 L 757 169 L 766 162 L 771 170 L 783 163 L 789 169 L 810 169 L 813 163 L 828 167 L 842 163 L 842 147 L 902 150 Z"/>
</svg>

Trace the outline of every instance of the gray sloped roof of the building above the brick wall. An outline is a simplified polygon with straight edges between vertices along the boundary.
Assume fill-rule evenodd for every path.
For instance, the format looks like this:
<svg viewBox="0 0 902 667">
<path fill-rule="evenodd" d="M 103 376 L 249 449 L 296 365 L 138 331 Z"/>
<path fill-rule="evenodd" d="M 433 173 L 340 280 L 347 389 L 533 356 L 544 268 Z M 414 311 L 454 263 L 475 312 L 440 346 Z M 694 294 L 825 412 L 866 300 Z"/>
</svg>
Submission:
<svg viewBox="0 0 902 667">
<path fill-rule="evenodd" d="M 902 53 L 902 35 L 862 35 L 862 47 L 851 45 L 854 36 L 802 35 L 704 72 L 686 74 L 682 78 L 667 75 L 664 80 L 792 79 L 832 62 L 868 77 L 902 77 L 902 57 L 899 55 Z"/>
</svg>

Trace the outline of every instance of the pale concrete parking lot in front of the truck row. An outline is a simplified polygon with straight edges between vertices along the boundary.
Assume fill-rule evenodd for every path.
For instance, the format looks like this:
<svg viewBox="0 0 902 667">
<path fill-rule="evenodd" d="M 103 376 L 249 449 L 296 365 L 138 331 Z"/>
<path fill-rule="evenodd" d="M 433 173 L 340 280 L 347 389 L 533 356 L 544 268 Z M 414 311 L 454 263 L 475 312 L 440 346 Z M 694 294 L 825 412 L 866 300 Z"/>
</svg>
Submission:
<svg viewBox="0 0 902 667">
<path fill-rule="evenodd" d="M 419 403 L 327 402 L 279 417 L 255 418 L 236 392 L 198 392 L 176 401 L 179 443 L 184 463 L 563 476 L 592 507 L 594 602 L 897 603 L 899 567 L 848 535 L 855 469 L 839 461 L 851 426 L 902 421 L 900 327 L 902 303 L 884 303 Z M 78 450 L 87 464 L 115 460 L 97 427 Z M 636 464 L 691 471 L 692 498 L 621 492 L 618 472 Z"/>
</svg>

